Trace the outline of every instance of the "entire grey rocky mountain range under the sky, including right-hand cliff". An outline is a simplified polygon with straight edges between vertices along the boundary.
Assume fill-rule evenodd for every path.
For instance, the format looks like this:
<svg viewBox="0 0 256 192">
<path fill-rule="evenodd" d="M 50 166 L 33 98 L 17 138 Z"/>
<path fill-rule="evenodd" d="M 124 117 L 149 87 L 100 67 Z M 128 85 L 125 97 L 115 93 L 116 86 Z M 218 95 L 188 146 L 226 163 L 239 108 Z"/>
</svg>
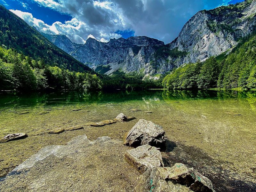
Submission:
<svg viewBox="0 0 256 192">
<path fill-rule="evenodd" d="M 255 30 L 256 0 L 199 11 L 170 44 L 146 36 L 110 39 L 102 43 L 87 39 L 84 45 L 72 43 L 66 36 L 47 36 L 71 56 L 106 74 L 116 70 L 164 74 L 184 63 L 203 61 L 229 52 L 239 38 Z"/>
</svg>

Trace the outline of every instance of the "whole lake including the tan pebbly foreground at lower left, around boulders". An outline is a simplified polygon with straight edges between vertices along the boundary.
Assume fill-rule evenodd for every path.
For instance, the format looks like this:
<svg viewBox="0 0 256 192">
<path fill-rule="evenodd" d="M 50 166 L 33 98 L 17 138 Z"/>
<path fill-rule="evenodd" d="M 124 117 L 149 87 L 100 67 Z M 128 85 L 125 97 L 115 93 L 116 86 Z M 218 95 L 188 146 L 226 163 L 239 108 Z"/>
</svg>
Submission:
<svg viewBox="0 0 256 192">
<path fill-rule="evenodd" d="M 136 119 L 48 134 L 120 113 Z M 231 90 L 1 93 L 0 137 L 28 137 L 0 143 L 0 191 L 133 191 L 140 174 L 123 160 L 122 141 L 139 119 L 163 126 L 166 166 L 194 167 L 216 191 L 255 191 L 256 91 Z M 31 156 L 29 169 L 10 172 Z"/>
</svg>

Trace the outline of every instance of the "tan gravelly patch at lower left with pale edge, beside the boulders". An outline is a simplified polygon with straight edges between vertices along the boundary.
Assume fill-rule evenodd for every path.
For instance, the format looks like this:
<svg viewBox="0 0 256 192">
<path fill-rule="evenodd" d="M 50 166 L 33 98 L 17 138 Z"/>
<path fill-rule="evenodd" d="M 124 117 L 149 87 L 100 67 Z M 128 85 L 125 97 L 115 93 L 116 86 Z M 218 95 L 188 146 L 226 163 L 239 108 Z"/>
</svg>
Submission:
<svg viewBox="0 0 256 192">
<path fill-rule="evenodd" d="M 126 148 L 119 139 L 86 135 L 46 146 L 1 178 L 0 191 L 132 192 L 140 174 L 124 162 Z"/>
</svg>

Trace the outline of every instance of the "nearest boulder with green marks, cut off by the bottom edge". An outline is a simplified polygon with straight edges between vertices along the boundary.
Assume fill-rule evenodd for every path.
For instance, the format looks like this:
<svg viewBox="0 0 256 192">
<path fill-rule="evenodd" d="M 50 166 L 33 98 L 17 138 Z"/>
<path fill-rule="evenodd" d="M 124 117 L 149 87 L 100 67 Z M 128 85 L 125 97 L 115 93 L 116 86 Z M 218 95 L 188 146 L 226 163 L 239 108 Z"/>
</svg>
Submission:
<svg viewBox="0 0 256 192">
<path fill-rule="evenodd" d="M 144 172 L 135 188 L 136 192 L 215 192 L 207 177 L 184 164 L 157 167 Z"/>
</svg>

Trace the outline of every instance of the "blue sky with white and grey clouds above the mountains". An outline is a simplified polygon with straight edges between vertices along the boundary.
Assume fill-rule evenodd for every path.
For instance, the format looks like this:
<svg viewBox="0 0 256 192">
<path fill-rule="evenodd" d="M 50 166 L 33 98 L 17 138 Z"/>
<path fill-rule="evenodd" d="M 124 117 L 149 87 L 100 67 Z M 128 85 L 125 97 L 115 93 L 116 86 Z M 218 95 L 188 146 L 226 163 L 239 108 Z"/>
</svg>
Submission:
<svg viewBox="0 0 256 192">
<path fill-rule="evenodd" d="M 241 0 L 0 0 L 29 25 L 85 43 L 88 37 L 145 35 L 171 42 L 186 21 L 202 9 Z"/>
</svg>

